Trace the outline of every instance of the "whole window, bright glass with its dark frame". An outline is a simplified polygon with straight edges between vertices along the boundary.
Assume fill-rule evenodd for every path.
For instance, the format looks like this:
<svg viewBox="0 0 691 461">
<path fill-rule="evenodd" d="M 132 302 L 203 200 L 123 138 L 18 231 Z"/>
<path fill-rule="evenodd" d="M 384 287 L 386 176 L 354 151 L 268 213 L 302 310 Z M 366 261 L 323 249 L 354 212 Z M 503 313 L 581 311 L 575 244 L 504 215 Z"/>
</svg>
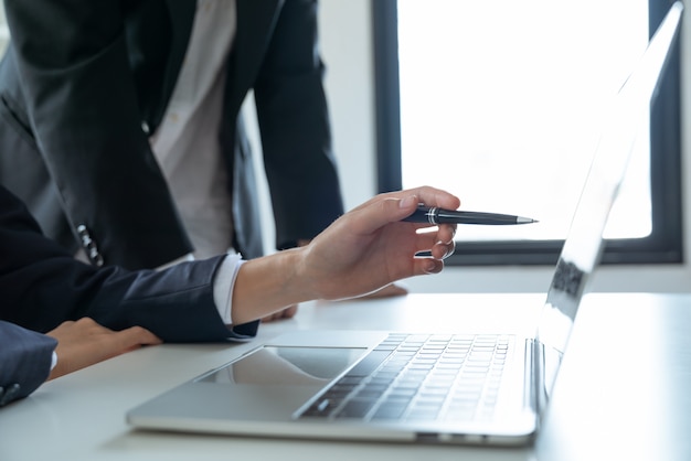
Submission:
<svg viewBox="0 0 691 461">
<path fill-rule="evenodd" d="M 439 185 L 468 210 L 541 221 L 464 226 L 451 265 L 554 264 L 598 117 L 670 4 L 373 2 L 379 189 Z M 605 264 L 682 259 L 678 45 L 672 53 L 605 232 Z"/>
</svg>

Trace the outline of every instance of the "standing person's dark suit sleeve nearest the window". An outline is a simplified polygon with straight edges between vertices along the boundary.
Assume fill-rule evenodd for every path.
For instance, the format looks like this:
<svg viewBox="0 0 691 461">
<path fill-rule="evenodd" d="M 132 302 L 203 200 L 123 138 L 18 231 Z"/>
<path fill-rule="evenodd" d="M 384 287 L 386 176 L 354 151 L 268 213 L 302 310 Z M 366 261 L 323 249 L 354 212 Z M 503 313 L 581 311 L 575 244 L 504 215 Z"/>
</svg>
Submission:
<svg viewBox="0 0 691 461">
<path fill-rule="evenodd" d="M 279 249 L 343 213 L 323 73 L 317 2 L 287 0 L 254 88 Z"/>
</svg>

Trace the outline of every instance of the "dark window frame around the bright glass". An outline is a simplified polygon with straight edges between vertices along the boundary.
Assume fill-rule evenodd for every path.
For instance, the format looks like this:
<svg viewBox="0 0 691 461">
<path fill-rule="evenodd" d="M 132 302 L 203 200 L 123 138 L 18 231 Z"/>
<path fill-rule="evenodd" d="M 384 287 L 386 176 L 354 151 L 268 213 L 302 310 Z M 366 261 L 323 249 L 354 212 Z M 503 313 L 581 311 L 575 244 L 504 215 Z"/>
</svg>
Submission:
<svg viewBox="0 0 691 461">
<path fill-rule="evenodd" d="M 649 0 L 655 32 L 670 0 Z M 397 0 L 372 2 L 378 190 L 402 189 Z M 606 240 L 602 264 L 683 264 L 681 187 L 681 66 L 677 40 L 650 106 L 652 230 L 648 237 Z M 563 240 L 457 242 L 449 266 L 554 265 Z"/>
</svg>

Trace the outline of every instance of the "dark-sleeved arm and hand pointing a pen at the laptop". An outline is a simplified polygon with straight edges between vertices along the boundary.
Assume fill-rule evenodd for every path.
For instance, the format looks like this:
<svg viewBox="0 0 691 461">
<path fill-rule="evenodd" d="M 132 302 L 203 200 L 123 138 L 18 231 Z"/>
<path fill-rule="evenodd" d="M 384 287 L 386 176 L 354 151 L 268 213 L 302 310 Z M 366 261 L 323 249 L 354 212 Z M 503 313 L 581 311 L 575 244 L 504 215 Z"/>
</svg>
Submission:
<svg viewBox="0 0 691 461">
<path fill-rule="evenodd" d="M 429 224 L 401 222 L 421 202 L 451 210 L 460 204 L 427 186 L 380 194 L 304 247 L 130 271 L 78 261 L 0 186 L 0 320 L 44 333 L 87 317 L 116 331 L 141 326 L 164 342 L 245 341 L 258 319 L 286 305 L 363 296 L 440 271 L 455 248 L 456 226 L 419 233 Z"/>
</svg>

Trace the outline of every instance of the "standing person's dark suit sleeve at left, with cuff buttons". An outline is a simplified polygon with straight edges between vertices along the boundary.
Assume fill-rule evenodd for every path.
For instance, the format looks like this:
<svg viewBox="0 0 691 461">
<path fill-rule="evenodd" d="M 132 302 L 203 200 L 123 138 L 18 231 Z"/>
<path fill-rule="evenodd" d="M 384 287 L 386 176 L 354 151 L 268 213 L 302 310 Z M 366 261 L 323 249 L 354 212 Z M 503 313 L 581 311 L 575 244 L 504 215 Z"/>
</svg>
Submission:
<svg viewBox="0 0 691 461">
<path fill-rule="evenodd" d="M 88 233 L 105 264 L 130 269 L 191 250 L 129 65 L 126 14 L 145 3 L 162 4 L 4 2 L 28 122 L 71 227 Z"/>
</svg>

